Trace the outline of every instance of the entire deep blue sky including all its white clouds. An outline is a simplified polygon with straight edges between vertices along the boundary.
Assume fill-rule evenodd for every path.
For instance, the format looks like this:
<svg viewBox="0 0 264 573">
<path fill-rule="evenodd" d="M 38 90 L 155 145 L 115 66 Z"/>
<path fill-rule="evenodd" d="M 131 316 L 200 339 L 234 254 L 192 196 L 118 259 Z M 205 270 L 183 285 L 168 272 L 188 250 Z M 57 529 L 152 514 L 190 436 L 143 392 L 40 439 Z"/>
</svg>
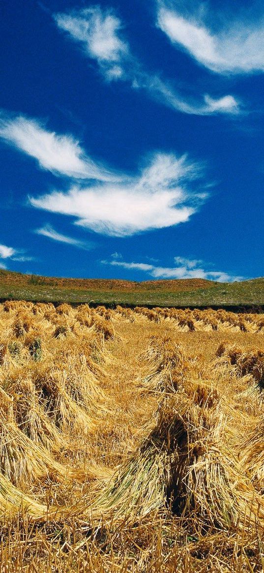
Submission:
<svg viewBox="0 0 264 573">
<path fill-rule="evenodd" d="M 0 266 L 263 275 L 262 2 L 2 0 Z"/>
</svg>

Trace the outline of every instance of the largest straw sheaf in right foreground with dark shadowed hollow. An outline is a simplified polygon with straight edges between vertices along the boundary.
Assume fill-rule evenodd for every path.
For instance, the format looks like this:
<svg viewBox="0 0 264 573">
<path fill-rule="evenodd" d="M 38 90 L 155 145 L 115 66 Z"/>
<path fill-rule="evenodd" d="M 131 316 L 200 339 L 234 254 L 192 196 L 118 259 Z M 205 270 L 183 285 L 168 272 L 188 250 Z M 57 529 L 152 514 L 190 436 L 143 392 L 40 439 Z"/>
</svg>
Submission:
<svg viewBox="0 0 264 573">
<path fill-rule="evenodd" d="M 199 532 L 264 519 L 261 497 L 227 448 L 222 415 L 200 403 L 166 399 L 155 429 L 94 500 L 93 515 L 135 520 L 167 507 Z"/>
</svg>

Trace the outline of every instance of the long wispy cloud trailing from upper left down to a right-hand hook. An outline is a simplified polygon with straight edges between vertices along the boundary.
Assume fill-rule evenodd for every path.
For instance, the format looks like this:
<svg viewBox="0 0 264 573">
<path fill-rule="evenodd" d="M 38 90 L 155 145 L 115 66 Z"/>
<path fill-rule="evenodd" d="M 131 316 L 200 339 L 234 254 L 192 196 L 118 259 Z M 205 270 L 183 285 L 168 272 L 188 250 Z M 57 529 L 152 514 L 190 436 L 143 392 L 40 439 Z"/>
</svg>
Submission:
<svg viewBox="0 0 264 573">
<path fill-rule="evenodd" d="M 122 80 L 133 89 L 144 90 L 152 99 L 183 113 L 213 115 L 239 113 L 239 101 L 232 95 L 213 99 L 208 95 L 188 97 L 159 74 L 149 74 L 142 69 L 123 38 L 123 25 L 113 10 L 100 6 L 54 14 L 58 28 L 82 46 L 89 58 L 96 60 L 107 81 Z"/>
</svg>

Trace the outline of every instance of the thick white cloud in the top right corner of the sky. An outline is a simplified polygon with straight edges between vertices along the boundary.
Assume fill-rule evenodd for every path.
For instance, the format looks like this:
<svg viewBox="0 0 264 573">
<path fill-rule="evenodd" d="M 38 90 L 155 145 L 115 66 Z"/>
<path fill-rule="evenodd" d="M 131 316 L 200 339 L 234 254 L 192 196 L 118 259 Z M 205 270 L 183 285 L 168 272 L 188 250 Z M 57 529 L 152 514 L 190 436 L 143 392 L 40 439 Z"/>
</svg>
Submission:
<svg viewBox="0 0 264 573">
<path fill-rule="evenodd" d="M 184 5 L 185 10 L 187 6 L 188 3 Z M 211 19 L 212 26 L 206 25 L 206 17 Z M 226 18 L 223 23 L 222 14 L 222 27 L 213 32 L 217 21 L 218 14 L 207 14 L 202 4 L 196 3 L 195 13 L 186 17 L 167 7 L 166 2 L 158 2 L 157 26 L 200 64 L 222 74 L 263 72 L 263 17 L 252 22 L 247 12 L 241 14 L 241 19 Z"/>
</svg>

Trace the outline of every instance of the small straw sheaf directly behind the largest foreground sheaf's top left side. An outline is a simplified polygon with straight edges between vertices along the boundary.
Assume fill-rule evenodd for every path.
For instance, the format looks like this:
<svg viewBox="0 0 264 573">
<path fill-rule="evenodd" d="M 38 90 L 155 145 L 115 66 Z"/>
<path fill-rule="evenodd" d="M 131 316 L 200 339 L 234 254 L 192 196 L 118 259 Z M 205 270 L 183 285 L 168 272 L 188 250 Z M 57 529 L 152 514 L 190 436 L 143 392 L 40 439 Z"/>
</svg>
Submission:
<svg viewBox="0 0 264 573">
<path fill-rule="evenodd" d="M 139 386 L 144 390 L 175 391 L 188 368 L 182 346 L 168 336 L 152 336 L 140 358 L 144 366 Z"/>
</svg>

